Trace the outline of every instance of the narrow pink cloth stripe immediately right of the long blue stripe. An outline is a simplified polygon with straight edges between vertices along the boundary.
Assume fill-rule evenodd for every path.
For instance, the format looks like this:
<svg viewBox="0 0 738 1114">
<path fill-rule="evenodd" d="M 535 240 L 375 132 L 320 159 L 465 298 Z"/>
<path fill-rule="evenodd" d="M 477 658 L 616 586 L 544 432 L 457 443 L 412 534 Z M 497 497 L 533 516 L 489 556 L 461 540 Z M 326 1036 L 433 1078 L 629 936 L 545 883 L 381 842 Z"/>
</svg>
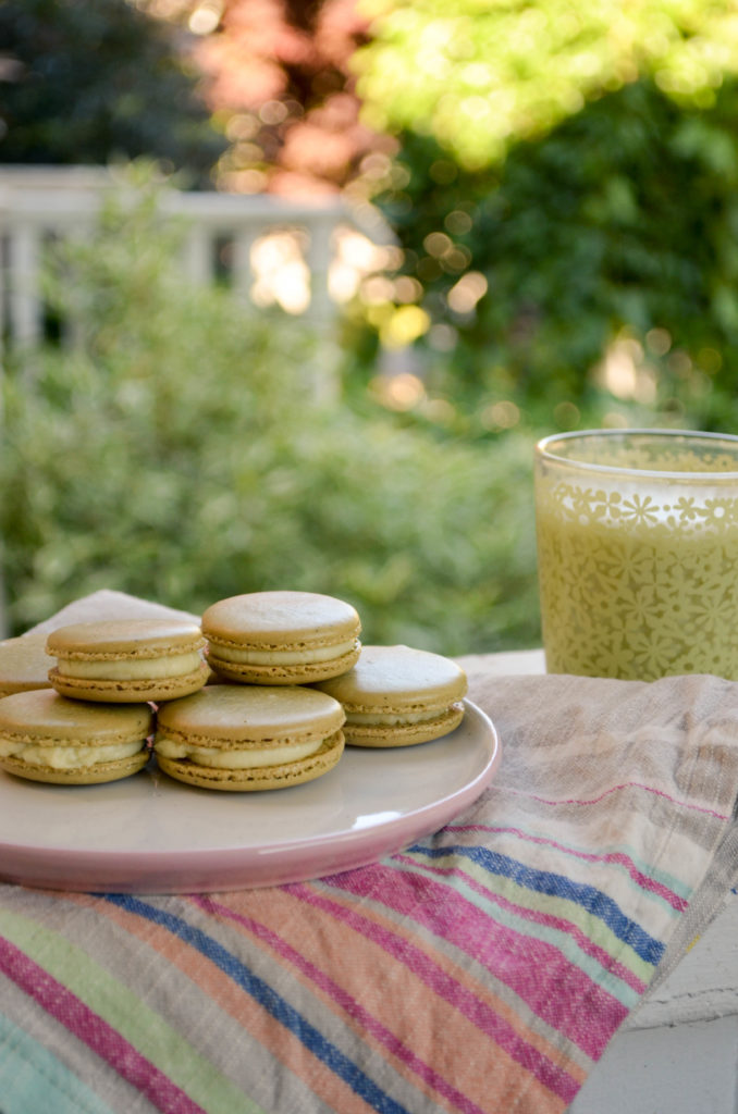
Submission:
<svg viewBox="0 0 738 1114">
<path fill-rule="evenodd" d="M 191 900 L 208 913 L 215 913 L 215 916 L 224 917 L 242 925 L 256 939 L 268 944 L 282 959 L 292 964 L 314 983 L 315 986 L 326 991 L 349 1017 L 359 1022 L 368 1033 L 371 1033 L 379 1044 L 383 1045 L 392 1055 L 402 1061 L 424 1083 L 429 1084 L 434 1091 L 451 1102 L 455 1110 L 462 1111 L 463 1114 L 484 1114 L 476 1103 L 463 1095 L 456 1087 L 451 1086 L 443 1076 L 435 1072 L 430 1065 L 420 1059 L 407 1045 L 398 1040 L 395 1034 L 370 1014 L 369 1010 L 359 1005 L 352 995 L 343 990 L 329 975 L 305 959 L 287 940 L 283 940 L 265 925 L 253 920 L 251 917 L 245 917 L 243 913 L 235 912 L 233 909 L 229 909 L 227 906 L 221 905 L 221 902 L 215 901 L 206 895 L 192 895 Z"/>
</svg>

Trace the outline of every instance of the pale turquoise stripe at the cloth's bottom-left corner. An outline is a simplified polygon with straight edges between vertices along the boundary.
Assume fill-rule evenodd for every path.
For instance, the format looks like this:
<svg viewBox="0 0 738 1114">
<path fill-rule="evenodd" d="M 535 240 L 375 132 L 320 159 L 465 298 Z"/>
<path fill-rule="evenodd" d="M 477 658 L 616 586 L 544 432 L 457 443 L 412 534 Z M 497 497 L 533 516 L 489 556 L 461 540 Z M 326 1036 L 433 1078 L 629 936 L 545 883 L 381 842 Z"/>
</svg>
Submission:
<svg viewBox="0 0 738 1114">
<path fill-rule="evenodd" d="M 78 1075 L 0 1014 L 0 1108 L 3 1114 L 113 1114 Z"/>
</svg>

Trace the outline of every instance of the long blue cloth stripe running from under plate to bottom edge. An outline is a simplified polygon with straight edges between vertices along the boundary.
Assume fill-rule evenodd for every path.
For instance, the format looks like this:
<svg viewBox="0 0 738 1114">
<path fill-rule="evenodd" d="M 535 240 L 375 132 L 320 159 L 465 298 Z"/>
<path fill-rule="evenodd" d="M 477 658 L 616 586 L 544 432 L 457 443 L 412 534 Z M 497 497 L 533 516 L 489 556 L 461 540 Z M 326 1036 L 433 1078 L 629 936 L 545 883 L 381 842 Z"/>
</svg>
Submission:
<svg viewBox="0 0 738 1114">
<path fill-rule="evenodd" d="M 322 1061 L 339 1078 L 343 1079 L 372 1110 L 380 1112 L 380 1114 L 408 1114 L 404 1106 L 378 1087 L 373 1079 L 370 1079 L 357 1064 L 328 1040 L 314 1025 L 305 1020 L 269 983 L 250 970 L 245 964 L 241 962 L 233 952 L 224 948 L 212 936 L 193 925 L 188 925 L 183 918 L 148 905 L 139 898 L 126 893 L 100 893 L 97 896 L 119 906 L 127 912 L 136 913 L 168 929 L 185 944 L 196 948 L 246 994 L 250 994 L 281 1025 L 293 1033 L 305 1048 Z"/>
</svg>

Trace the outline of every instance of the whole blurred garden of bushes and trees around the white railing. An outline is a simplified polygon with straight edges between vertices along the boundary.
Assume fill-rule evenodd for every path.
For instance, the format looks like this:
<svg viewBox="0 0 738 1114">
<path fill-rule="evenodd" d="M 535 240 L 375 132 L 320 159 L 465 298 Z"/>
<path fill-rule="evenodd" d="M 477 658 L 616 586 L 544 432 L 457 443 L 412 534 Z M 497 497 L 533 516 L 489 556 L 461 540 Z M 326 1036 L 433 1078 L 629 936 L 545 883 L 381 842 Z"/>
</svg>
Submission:
<svg viewBox="0 0 738 1114">
<path fill-rule="evenodd" d="M 531 646 L 537 438 L 738 427 L 728 0 L 4 0 L 0 162 L 137 197 L 3 352 L 13 632 L 292 587 L 367 642 Z M 175 187 L 342 196 L 394 245 L 330 330 L 247 313 L 182 281 Z"/>
</svg>

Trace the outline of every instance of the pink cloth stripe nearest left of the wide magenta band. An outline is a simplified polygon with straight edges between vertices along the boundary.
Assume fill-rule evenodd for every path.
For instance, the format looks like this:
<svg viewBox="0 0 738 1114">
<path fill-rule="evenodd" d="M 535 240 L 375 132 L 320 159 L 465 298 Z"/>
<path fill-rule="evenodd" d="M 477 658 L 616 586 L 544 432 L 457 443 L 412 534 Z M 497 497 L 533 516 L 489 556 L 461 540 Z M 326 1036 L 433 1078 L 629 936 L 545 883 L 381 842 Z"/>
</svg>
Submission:
<svg viewBox="0 0 738 1114">
<path fill-rule="evenodd" d="M 351 871 L 350 874 L 362 874 L 360 871 Z M 338 878 L 347 878 L 348 874 L 334 876 L 332 879 L 323 879 L 323 882 L 332 885 Z M 423 979 L 435 995 L 444 998 L 464 1014 L 483 1033 L 486 1033 L 496 1044 L 503 1048 L 512 1059 L 526 1068 L 538 1079 L 548 1091 L 559 1095 L 566 1103 L 571 1103 L 579 1091 L 581 1083 L 574 1079 L 563 1067 L 552 1063 L 543 1053 L 534 1048 L 519 1033 L 505 1022 L 491 1006 L 478 998 L 467 986 L 458 983 L 450 975 L 444 971 L 433 958 L 423 949 L 409 944 L 396 934 L 380 925 L 375 924 L 353 909 L 348 909 L 338 901 L 314 892 L 308 886 L 295 882 L 285 886 L 292 895 L 300 900 L 329 912 L 331 917 L 348 924 L 355 931 L 361 932 L 368 939 L 383 948 L 398 961 L 406 964 L 412 974 Z"/>
</svg>

